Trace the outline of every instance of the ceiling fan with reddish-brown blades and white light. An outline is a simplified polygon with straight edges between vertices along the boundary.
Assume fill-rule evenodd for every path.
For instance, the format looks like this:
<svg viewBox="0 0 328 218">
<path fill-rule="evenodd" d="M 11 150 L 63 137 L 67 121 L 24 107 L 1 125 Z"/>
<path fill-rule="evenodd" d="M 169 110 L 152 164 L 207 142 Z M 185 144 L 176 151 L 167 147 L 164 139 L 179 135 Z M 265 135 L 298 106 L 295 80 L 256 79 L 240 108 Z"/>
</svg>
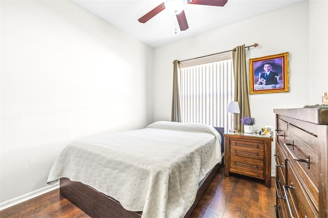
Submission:
<svg viewBox="0 0 328 218">
<path fill-rule="evenodd" d="M 228 0 L 166 0 L 144 16 L 140 17 L 138 20 L 140 23 L 146 23 L 162 10 L 168 9 L 171 13 L 176 15 L 180 30 L 183 31 L 189 28 L 184 11 L 187 4 L 223 7 L 227 2 Z"/>
</svg>

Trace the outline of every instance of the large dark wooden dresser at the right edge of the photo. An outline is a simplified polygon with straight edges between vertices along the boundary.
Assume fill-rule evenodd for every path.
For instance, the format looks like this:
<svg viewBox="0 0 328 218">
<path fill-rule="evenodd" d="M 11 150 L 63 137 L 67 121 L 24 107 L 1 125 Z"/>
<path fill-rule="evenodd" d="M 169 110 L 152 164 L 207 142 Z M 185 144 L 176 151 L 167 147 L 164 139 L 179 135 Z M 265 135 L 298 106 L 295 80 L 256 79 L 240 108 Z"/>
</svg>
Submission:
<svg viewBox="0 0 328 218">
<path fill-rule="evenodd" d="M 328 217 L 328 108 L 274 113 L 276 217 Z"/>
</svg>

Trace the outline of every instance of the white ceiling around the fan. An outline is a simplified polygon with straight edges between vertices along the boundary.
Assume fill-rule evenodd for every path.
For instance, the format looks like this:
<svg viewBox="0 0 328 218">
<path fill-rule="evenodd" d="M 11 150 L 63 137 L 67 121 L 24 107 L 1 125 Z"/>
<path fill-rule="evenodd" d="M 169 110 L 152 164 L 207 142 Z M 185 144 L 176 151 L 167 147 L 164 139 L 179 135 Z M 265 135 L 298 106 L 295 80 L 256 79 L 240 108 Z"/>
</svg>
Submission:
<svg viewBox="0 0 328 218">
<path fill-rule="evenodd" d="M 139 23 L 138 18 L 163 0 L 71 1 L 155 48 L 305 0 L 228 0 L 224 7 L 188 4 L 185 13 L 189 29 L 185 31 L 180 31 L 175 15 L 167 10 L 145 24 Z"/>
</svg>

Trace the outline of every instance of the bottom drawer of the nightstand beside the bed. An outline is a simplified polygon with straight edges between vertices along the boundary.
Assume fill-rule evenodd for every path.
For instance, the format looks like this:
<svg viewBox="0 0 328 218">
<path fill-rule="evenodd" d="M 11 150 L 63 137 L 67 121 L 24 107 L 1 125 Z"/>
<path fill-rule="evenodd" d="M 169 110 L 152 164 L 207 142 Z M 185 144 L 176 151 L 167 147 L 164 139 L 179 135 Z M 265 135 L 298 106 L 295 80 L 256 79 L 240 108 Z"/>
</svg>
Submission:
<svg viewBox="0 0 328 218">
<path fill-rule="evenodd" d="M 264 164 L 262 160 L 239 157 L 231 155 L 230 157 L 230 171 L 239 173 L 244 176 L 264 179 L 263 169 Z"/>
</svg>

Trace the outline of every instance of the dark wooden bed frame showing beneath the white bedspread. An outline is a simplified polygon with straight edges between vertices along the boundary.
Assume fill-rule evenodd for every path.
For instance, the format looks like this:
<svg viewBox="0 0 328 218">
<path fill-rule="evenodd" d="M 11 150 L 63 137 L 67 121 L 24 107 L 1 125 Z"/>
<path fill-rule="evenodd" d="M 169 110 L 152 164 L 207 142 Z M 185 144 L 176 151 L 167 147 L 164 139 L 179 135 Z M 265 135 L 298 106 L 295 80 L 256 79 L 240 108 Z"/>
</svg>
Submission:
<svg viewBox="0 0 328 218">
<path fill-rule="evenodd" d="M 221 154 L 222 161 L 224 157 L 224 128 L 223 127 L 214 127 L 221 135 Z M 201 187 L 198 189 L 196 200 L 191 208 L 186 213 L 185 217 L 189 217 L 193 210 L 195 209 L 197 203 L 202 197 L 203 193 L 211 183 L 213 177 L 215 176 L 218 168 L 221 163 L 218 163 L 211 173 L 209 173 L 207 179 L 203 182 Z M 80 182 L 72 182 L 67 178 L 60 179 L 60 194 L 72 202 L 75 206 L 83 210 L 89 216 L 95 217 L 120 217 L 120 218 L 140 218 L 142 212 L 133 212 L 124 209 L 118 201 L 115 199 L 98 192 L 90 186 L 84 185 Z"/>
</svg>

